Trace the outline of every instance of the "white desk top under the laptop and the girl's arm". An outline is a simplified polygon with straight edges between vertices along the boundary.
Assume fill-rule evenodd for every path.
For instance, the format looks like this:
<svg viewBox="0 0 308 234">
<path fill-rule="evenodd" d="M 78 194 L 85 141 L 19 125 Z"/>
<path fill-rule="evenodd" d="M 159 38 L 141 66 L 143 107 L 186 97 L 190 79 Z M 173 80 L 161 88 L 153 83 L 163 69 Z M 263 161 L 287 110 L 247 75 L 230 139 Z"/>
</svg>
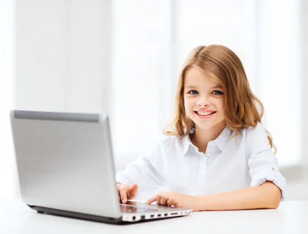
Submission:
<svg viewBox="0 0 308 234">
<path fill-rule="evenodd" d="M 186 217 L 114 225 L 40 214 L 19 199 L 0 200 L 0 233 L 308 233 L 308 201 L 277 209 L 202 211 Z"/>
</svg>

